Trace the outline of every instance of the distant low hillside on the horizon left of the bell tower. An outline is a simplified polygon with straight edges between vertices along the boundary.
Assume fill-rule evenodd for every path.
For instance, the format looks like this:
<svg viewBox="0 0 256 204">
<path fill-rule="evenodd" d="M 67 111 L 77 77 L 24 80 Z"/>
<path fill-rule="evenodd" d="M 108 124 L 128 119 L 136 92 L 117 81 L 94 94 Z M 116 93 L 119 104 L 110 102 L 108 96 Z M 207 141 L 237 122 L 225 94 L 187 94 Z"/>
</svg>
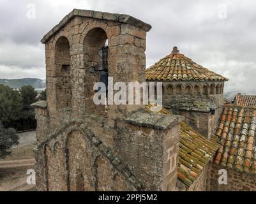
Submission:
<svg viewBox="0 0 256 204">
<path fill-rule="evenodd" d="M 41 80 L 39 78 L 0 78 L 0 84 L 8 85 L 13 89 L 19 89 L 20 87 L 22 87 L 22 85 L 31 85 L 34 88 L 45 88 L 45 80 Z"/>
</svg>

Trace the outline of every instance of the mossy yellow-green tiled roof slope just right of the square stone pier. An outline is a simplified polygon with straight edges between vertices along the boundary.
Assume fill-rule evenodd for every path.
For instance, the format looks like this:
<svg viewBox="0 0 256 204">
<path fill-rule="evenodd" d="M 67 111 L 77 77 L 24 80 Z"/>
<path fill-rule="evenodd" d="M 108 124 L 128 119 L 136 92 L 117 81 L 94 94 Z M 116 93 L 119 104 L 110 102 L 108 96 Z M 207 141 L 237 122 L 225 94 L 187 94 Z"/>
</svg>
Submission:
<svg viewBox="0 0 256 204">
<path fill-rule="evenodd" d="M 151 111 L 153 106 L 154 105 L 146 105 L 146 111 Z M 160 108 L 159 111 L 163 114 L 170 114 L 165 108 Z M 220 146 L 220 144 L 216 142 L 217 139 L 218 137 L 213 136 L 211 140 L 207 140 L 191 126 L 185 122 L 181 122 L 177 177 L 186 187 L 193 184 L 195 178 L 215 156 L 216 150 Z"/>
</svg>

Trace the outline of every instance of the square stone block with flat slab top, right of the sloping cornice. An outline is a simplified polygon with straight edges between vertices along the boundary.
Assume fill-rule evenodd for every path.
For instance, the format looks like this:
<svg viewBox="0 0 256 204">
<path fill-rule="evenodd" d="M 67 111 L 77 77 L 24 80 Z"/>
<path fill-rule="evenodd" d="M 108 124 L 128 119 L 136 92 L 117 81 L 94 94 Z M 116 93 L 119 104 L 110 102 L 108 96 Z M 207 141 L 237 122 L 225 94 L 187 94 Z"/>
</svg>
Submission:
<svg viewBox="0 0 256 204">
<path fill-rule="evenodd" d="M 142 179 L 147 190 L 173 191 L 177 183 L 181 119 L 154 114 L 137 112 L 127 119 L 132 124 L 117 123 L 116 147 L 122 148 L 116 151 L 134 175 Z M 158 129 L 156 124 L 160 125 L 160 121 L 170 124 L 170 128 Z"/>
</svg>

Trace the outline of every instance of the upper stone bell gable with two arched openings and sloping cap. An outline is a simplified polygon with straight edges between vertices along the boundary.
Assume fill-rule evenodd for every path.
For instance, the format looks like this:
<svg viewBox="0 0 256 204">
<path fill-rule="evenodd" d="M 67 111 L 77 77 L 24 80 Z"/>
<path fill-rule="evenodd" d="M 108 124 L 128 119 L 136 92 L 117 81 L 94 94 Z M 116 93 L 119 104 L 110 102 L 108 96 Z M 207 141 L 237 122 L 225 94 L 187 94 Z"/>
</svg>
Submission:
<svg viewBox="0 0 256 204">
<path fill-rule="evenodd" d="M 141 106 L 93 103 L 95 82 L 102 73 L 102 47 L 108 43 L 108 73 L 115 82 L 143 82 L 146 68 L 146 32 L 151 29 L 129 15 L 73 10 L 47 33 L 45 44 L 49 128 L 71 118 L 105 114 L 109 124 Z M 109 96 L 111 97 L 111 96 Z"/>
</svg>

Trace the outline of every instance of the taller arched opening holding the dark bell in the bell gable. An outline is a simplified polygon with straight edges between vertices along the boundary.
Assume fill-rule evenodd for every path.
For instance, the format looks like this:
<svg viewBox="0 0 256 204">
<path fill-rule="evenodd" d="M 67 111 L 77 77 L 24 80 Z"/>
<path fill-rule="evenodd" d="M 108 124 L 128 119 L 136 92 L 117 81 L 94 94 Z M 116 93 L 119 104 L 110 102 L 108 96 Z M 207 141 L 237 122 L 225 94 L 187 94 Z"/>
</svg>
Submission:
<svg viewBox="0 0 256 204">
<path fill-rule="evenodd" d="M 108 43 L 107 33 L 100 27 L 91 29 L 84 38 L 86 111 L 99 115 L 107 115 Z"/>
</svg>

